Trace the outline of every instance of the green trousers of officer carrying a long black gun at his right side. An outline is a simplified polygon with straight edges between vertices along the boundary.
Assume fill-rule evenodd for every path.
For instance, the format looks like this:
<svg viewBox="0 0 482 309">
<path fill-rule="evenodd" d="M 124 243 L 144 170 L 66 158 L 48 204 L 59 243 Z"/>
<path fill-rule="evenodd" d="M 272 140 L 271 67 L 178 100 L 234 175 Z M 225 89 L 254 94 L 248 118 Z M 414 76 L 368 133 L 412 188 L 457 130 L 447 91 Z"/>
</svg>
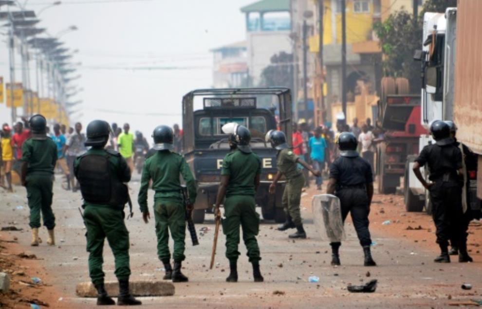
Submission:
<svg viewBox="0 0 482 309">
<path fill-rule="evenodd" d="M 176 262 L 184 261 L 185 221 L 184 204 L 177 199 L 154 199 L 154 218 L 156 220 L 157 256 L 164 263 L 170 262 L 169 230 L 174 240 L 172 258 Z"/>
</svg>

